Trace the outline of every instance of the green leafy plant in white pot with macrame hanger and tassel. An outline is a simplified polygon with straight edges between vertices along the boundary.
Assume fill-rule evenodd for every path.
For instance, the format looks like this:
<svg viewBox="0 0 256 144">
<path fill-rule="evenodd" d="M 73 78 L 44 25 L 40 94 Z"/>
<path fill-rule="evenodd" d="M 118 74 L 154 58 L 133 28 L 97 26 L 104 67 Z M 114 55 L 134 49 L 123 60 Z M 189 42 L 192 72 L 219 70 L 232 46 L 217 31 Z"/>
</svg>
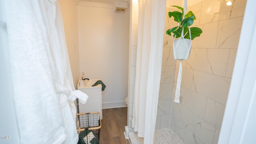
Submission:
<svg viewBox="0 0 256 144">
<path fill-rule="evenodd" d="M 173 55 L 175 60 L 180 60 L 177 86 L 175 91 L 174 102 L 180 103 L 180 85 L 182 78 L 182 60 L 188 60 L 190 55 L 192 40 L 202 34 L 202 30 L 197 27 L 192 27 L 196 16 L 192 11 L 188 12 L 187 0 L 184 0 L 184 8 L 180 6 L 173 6 L 181 10 L 182 12 L 174 11 L 169 12 L 169 17 L 173 17 L 175 22 L 178 22 L 178 26 L 166 31 L 166 34 L 174 37 L 173 42 Z M 185 14 L 186 10 L 186 14 Z"/>
</svg>

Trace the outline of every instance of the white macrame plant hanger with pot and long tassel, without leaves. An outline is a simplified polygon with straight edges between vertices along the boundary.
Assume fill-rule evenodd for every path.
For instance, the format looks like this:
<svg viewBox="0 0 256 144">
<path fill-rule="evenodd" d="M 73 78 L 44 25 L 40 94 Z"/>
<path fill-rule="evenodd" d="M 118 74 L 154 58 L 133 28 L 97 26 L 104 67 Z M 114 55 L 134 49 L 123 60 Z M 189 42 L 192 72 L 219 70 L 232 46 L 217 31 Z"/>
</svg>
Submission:
<svg viewBox="0 0 256 144">
<path fill-rule="evenodd" d="M 184 12 L 183 12 L 183 18 L 185 18 L 185 12 L 188 12 L 187 7 L 187 0 L 184 0 Z M 178 26 L 180 26 L 180 23 L 178 23 Z M 188 60 L 188 57 L 190 55 L 191 51 L 191 32 L 190 32 L 190 26 L 188 26 L 188 32 L 190 36 L 190 40 L 184 38 L 184 28 L 182 28 L 181 36 L 180 38 L 176 39 L 176 35 L 174 36 L 174 42 L 173 42 L 173 54 L 175 60 L 180 60 L 180 66 L 179 66 L 179 72 L 178 72 L 178 79 L 177 79 L 177 85 L 176 85 L 176 91 L 175 91 L 175 99 L 174 102 L 180 103 L 180 85 L 181 85 L 181 79 L 182 79 L 182 60 Z"/>
</svg>

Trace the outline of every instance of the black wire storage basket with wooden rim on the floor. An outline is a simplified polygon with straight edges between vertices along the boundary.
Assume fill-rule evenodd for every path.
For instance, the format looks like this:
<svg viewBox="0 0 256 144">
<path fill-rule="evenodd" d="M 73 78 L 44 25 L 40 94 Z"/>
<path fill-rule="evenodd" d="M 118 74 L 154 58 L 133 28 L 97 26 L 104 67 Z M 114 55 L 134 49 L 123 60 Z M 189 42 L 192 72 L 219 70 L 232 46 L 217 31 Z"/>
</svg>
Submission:
<svg viewBox="0 0 256 144">
<path fill-rule="evenodd" d="M 99 144 L 101 118 L 100 112 L 76 114 L 78 144 Z"/>
</svg>

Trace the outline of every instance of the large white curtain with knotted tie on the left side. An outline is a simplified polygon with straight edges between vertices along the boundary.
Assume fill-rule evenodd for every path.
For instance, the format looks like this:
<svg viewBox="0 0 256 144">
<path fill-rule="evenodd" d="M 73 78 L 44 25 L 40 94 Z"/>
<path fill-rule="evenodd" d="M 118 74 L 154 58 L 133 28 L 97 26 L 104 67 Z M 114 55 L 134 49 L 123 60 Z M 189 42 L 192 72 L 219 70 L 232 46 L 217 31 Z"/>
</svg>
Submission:
<svg viewBox="0 0 256 144">
<path fill-rule="evenodd" d="M 74 89 L 56 0 L 5 0 L 10 70 L 22 144 L 76 144 Z"/>
</svg>

